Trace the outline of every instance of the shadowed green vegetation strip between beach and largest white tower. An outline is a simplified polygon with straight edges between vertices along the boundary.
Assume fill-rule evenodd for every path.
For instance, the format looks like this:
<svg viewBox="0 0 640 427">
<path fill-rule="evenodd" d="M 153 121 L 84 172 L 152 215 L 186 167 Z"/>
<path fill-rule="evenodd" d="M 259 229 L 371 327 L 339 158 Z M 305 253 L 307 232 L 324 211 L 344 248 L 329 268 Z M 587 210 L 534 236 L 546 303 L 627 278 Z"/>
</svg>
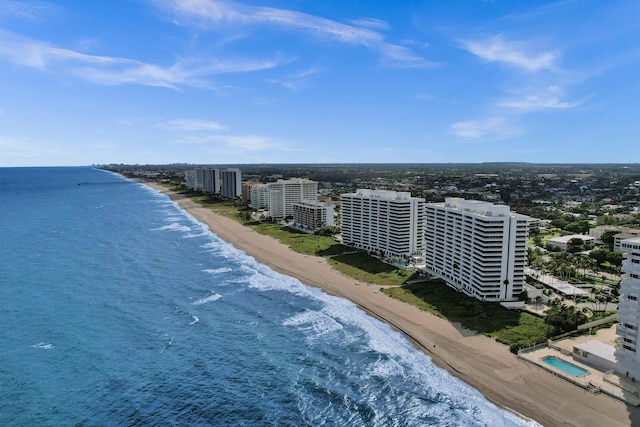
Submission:
<svg viewBox="0 0 640 427">
<path fill-rule="evenodd" d="M 386 288 L 382 292 L 493 337 L 513 352 L 547 339 L 548 328 L 542 318 L 506 309 L 498 303 L 479 301 L 440 281 Z"/>
</svg>

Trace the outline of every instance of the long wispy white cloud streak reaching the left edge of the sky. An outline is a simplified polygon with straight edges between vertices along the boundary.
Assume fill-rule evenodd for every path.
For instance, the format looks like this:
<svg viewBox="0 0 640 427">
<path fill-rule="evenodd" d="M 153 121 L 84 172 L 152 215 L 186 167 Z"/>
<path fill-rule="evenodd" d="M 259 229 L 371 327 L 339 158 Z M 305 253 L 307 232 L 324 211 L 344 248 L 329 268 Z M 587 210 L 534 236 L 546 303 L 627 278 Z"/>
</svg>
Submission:
<svg viewBox="0 0 640 427">
<path fill-rule="evenodd" d="M 288 62 L 282 57 L 263 60 L 184 59 L 165 67 L 134 59 L 87 55 L 0 30 L 2 58 L 43 71 L 60 69 L 100 85 L 141 84 L 170 88 L 183 85 L 207 87 L 206 77 L 265 70 Z"/>
</svg>

